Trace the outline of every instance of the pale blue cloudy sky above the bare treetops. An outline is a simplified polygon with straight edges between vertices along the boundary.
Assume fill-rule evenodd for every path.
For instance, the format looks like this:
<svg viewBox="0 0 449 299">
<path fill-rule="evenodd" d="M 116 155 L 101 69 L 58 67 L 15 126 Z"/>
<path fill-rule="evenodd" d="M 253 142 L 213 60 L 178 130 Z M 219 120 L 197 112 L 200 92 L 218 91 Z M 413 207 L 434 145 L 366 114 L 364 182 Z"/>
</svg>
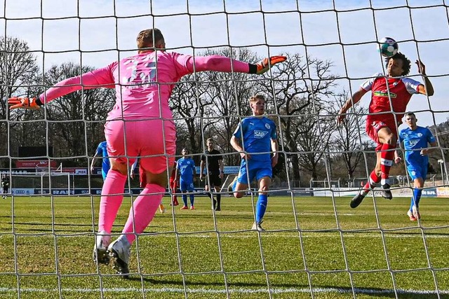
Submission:
<svg viewBox="0 0 449 299">
<path fill-rule="evenodd" d="M 335 74 L 351 78 L 338 80 L 340 88 L 353 91 L 382 71 L 375 41 L 391 36 L 412 62 L 420 57 L 429 76 L 436 76 L 435 96 L 428 101 L 416 95 L 409 109 L 434 111 L 418 113 L 421 125 L 443 122 L 449 115 L 443 0 L 371 2 L 373 9 L 369 0 L 0 0 L 0 34 L 27 41 L 42 69 L 67 61 L 102 67 L 135 53 L 137 33 L 155 26 L 168 48 L 181 53 L 231 45 L 260 55 L 307 53 L 331 60 Z M 410 74 L 417 74 L 415 64 Z M 368 103 L 366 95 L 361 104 Z"/>
</svg>

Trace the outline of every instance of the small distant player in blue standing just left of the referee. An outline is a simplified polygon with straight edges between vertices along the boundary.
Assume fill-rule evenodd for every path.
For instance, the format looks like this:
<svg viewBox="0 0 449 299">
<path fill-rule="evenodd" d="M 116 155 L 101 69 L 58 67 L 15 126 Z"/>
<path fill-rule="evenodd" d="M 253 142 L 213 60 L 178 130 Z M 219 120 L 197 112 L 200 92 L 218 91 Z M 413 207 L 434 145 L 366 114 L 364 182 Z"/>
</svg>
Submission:
<svg viewBox="0 0 449 299">
<path fill-rule="evenodd" d="M 187 148 L 182 148 L 182 158 L 177 160 L 176 163 L 176 174 L 180 175 L 180 190 L 182 192 L 182 201 L 184 206 L 181 209 L 189 209 L 187 207 L 187 192 L 190 193 L 190 209 L 195 209 L 194 207 L 194 175 L 196 174 L 195 162 L 189 157 L 189 151 Z"/>
</svg>

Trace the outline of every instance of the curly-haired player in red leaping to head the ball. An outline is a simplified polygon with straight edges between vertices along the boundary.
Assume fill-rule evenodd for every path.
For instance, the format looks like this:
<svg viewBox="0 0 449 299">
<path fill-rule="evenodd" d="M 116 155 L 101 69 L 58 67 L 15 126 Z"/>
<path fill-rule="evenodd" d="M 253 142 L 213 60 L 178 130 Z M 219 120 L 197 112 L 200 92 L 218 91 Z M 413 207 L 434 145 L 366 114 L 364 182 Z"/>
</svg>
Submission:
<svg viewBox="0 0 449 299">
<path fill-rule="evenodd" d="M 410 60 L 402 53 L 387 58 L 385 62 L 387 76 L 378 73 L 365 81 L 360 89 L 347 99 L 337 116 L 337 123 L 342 123 L 346 111 L 371 90 L 369 113 L 366 117 L 366 133 L 377 143 L 377 162 L 366 185 L 351 200 L 351 208 L 358 207 L 368 192 L 379 183 L 382 185 L 382 197 L 389 200 L 393 198 L 389 185 L 389 171 L 394 160 L 398 126 L 401 124 L 401 119 L 412 95 L 434 95 L 434 87 L 426 76 L 426 67 L 420 60 L 415 63 L 418 72 L 424 78 L 424 84 L 404 77 L 410 72 Z"/>
</svg>

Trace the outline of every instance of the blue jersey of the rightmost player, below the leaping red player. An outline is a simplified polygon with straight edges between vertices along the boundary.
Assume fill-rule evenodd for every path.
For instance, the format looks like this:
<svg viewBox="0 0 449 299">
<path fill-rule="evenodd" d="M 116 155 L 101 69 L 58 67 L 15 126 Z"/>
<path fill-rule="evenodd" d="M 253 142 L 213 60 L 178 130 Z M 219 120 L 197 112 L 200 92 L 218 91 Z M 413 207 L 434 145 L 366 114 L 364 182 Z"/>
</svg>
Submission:
<svg viewBox="0 0 449 299">
<path fill-rule="evenodd" d="M 435 142 L 435 137 L 427 127 L 416 127 L 410 130 L 407 127 L 399 133 L 399 141 L 404 143 L 406 150 L 406 161 L 409 165 L 425 165 L 429 163 L 427 155 L 421 155 L 420 151 L 428 147 L 428 144 Z"/>
</svg>

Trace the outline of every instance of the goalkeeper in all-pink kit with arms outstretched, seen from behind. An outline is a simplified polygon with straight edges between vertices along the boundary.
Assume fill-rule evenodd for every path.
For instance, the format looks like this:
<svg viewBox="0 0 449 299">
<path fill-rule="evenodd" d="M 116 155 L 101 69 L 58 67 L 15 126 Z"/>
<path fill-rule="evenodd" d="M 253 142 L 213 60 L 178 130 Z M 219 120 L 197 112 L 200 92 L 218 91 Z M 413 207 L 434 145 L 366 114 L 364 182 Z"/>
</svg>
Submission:
<svg viewBox="0 0 449 299">
<path fill-rule="evenodd" d="M 39 109 L 41 105 L 76 90 L 116 89 L 116 104 L 105 123 L 111 169 L 102 188 L 94 253 L 99 263 L 109 263 L 111 256 L 116 271 L 123 277 L 128 277 L 129 273 L 130 246 L 136 235 L 152 221 L 166 192 L 168 174 L 175 161 L 176 130 L 168 105 L 174 84 L 195 71 L 264 74 L 272 65 L 286 60 L 284 56 L 274 56 L 250 64 L 219 55 L 193 57 L 168 53 L 165 39 L 156 28 L 140 32 L 137 46 L 138 54 L 60 81 L 37 98 L 8 99 L 10 109 Z M 135 161 L 128 157 L 139 155 L 148 157 L 140 160 L 147 184 L 130 208 L 122 235 L 110 243 L 112 225 L 123 200 L 128 165 Z"/>
</svg>

